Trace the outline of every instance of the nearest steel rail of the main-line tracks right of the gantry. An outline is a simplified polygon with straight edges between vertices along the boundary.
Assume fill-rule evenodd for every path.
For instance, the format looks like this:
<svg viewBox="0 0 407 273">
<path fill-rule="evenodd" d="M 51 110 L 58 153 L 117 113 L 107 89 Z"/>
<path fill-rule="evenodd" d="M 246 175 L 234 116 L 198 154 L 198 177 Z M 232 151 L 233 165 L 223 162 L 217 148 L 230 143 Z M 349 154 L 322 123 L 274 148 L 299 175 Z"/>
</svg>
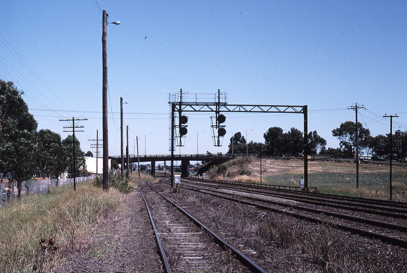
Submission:
<svg viewBox="0 0 407 273">
<path fill-rule="evenodd" d="M 333 224 L 337 229 L 340 229 L 340 230 L 343 230 L 343 231 L 349 231 L 349 232 L 351 232 L 353 234 L 362 235 L 364 237 L 372 238 L 372 239 L 379 239 L 379 240 L 381 240 L 383 242 L 386 242 L 386 243 L 391 243 L 393 245 L 397 245 L 397 246 L 400 246 L 400 247 L 403 247 L 403 248 L 407 248 L 407 241 L 401 240 L 401 239 L 396 239 L 394 237 L 389 237 L 389 236 L 385 236 L 385 235 L 378 234 L 378 233 L 373 233 L 373 232 L 368 232 L 368 231 L 364 231 L 364 230 L 360 230 L 360 229 L 355 229 L 355 228 L 352 228 L 351 226 L 348 226 L 348 225 L 332 223 L 332 222 L 324 221 L 324 220 L 321 220 L 321 219 L 305 216 L 305 215 L 302 215 L 302 214 L 289 212 L 289 211 L 286 211 L 286 210 L 275 209 L 275 208 L 271 208 L 271 207 L 268 207 L 268 206 L 264 206 L 264 205 L 260 205 L 260 204 L 256 204 L 256 203 L 251 203 L 251 202 L 248 202 L 248 201 L 235 199 L 235 198 L 232 198 L 232 197 L 221 196 L 221 195 L 217 195 L 217 194 L 214 194 L 214 193 L 205 193 L 205 192 L 198 191 L 198 190 L 195 190 L 195 189 L 190 189 L 190 190 L 200 192 L 200 193 L 204 193 L 204 194 L 208 194 L 208 195 L 218 197 L 218 198 L 223 198 L 223 199 L 230 200 L 230 201 L 233 201 L 233 202 L 254 206 L 254 207 L 257 207 L 257 208 L 260 208 L 260 209 L 264 209 L 264 210 L 268 210 L 268 211 L 272 211 L 272 212 L 276 212 L 276 213 L 280 213 L 280 214 L 286 214 L 286 215 L 289 215 L 291 217 L 301 219 L 301 220 L 307 220 L 307 221 L 310 221 L 310 222 L 316 222 L 316 223 L 319 223 L 319 224 L 326 224 L 326 225 L 332 225 Z M 266 200 L 262 200 L 262 202 L 265 202 L 265 201 Z M 284 204 L 284 205 L 287 205 L 287 204 Z M 287 206 L 292 207 L 291 205 L 287 205 Z"/>
</svg>

